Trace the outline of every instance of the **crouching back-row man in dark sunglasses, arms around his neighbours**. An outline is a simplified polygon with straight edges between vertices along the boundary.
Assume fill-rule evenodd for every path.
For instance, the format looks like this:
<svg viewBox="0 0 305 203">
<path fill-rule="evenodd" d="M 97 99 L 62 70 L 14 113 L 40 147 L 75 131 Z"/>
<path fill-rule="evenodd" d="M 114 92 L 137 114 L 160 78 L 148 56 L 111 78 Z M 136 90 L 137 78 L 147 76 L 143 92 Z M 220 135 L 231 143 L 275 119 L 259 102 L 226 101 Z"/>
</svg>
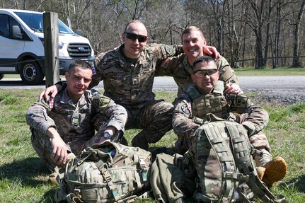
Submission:
<svg viewBox="0 0 305 203">
<path fill-rule="evenodd" d="M 142 129 L 132 139 L 132 146 L 142 149 L 148 149 L 149 143 L 159 141 L 172 129 L 173 105 L 156 100 L 152 92 L 155 72 L 160 68 L 156 64 L 183 52 L 182 46 L 147 44 L 148 40 L 142 22 L 127 23 L 122 33 L 124 44 L 103 55 L 103 59 L 94 67 L 96 74 L 90 85 L 96 86 L 103 80 L 104 95 L 127 109 L 125 129 Z M 206 51 L 209 52 L 207 54 L 212 54 L 209 50 Z M 57 90 L 48 88 L 45 96 L 50 92 L 54 96 Z"/>
</svg>

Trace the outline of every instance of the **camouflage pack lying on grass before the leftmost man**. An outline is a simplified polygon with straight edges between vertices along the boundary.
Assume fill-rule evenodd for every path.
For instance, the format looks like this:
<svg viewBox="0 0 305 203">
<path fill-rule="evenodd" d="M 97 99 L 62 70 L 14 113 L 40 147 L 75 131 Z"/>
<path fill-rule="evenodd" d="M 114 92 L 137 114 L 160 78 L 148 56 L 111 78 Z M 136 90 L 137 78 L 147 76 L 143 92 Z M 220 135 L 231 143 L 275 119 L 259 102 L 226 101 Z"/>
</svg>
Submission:
<svg viewBox="0 0 305 203">
<path fill-rule="evenodd" d="M 67 163 L 54 199 L 56 202 L 128 202 L 149 187 L 150 166 L 149 151 L 109 141 L 93 145 Z"/>
</svg>

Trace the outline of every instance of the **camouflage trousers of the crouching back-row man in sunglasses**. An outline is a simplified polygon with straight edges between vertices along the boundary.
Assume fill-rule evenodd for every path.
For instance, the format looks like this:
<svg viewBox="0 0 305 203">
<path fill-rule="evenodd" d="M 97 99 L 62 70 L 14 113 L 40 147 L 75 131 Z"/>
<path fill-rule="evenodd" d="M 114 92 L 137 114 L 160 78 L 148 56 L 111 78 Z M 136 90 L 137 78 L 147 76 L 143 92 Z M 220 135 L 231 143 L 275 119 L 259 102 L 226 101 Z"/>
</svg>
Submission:
<svg viewBox="0 0 305 203">
<path fill-rule="evenodd" d="M 139 108 L 127 108 L 125 129 L 142 129 L 132 139 L 132 146 L 147 149 L 172 129 L 173 104 L 163 100 L 151 100 Z"/>
</svg>

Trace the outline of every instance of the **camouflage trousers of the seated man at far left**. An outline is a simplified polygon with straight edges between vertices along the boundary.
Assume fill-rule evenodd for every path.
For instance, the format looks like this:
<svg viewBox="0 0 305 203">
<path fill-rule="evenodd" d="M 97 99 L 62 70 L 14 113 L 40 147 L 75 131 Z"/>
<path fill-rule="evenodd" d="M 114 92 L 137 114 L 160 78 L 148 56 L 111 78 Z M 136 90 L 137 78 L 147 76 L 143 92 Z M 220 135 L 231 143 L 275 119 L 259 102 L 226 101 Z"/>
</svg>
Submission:
<svg viewBox="0 0 305 203">
<path fill-rule="evenodd" d="M 103 132 L 103 130 L 100 130 Z M 68 153 L 74 153 L 78 156 L 83 149 L 86 149 L 87 146 L 92 146 L 93 144 L 97 144 L 100 142 L 100 138 L 103 136 L 103 133 L 97 133 L 95 136 L 91 137 L 91 139 L 80 139 L 77 138 L 73 141 L 67 142 L 67 149 Z M 54 168 L 62 167 L 58 166 L 54 161 L 52 161 L 51 154 L 52 154 L 52 144 L 50 141 L 50 137 L 47 134 L 42 134 L 35 129 L 32 129 L 32 136 L 31 136 L 32 146 L 35 149 L 38 156 L 42 158 L 42 161 L 46 163 L 47 168 L 54 171 Z"/>
</svg>

